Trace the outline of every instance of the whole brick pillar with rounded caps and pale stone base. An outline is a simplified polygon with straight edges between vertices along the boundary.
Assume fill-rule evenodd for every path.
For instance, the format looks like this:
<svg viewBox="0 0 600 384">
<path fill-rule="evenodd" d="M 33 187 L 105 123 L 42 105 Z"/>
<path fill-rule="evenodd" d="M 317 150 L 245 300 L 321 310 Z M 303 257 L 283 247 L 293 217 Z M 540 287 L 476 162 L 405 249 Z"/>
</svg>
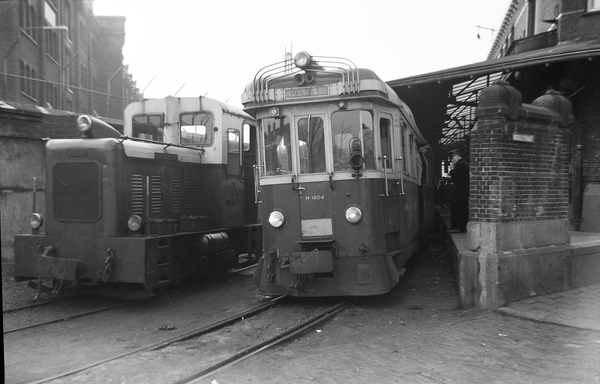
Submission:
<svg viewBox="0 0 600 384">
<path fill-rule="evenodd" d="M 469 156 L 469 252 L 459 257 L 459 280 L 465 307 L 495 308 L 552 290 L 547 279 L 563 278 L 548 268 L 553 261 L 543 249 L 570 242 L 573 117 L 555 91 L 523 104 L 516 89 L 498 82 L 479 99 Z"/>
</svg>

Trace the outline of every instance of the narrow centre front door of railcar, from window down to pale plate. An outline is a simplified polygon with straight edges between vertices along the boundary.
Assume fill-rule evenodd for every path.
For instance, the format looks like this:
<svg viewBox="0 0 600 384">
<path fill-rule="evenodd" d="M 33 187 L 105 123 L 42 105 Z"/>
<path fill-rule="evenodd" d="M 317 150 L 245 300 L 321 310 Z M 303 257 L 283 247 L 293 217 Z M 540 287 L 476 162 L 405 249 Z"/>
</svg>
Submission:
<svg viewBox="0 0 600 384">
<path fill-rule="evenodd" d="M 302 239 L 333 238 L 333 194 L 326 167 L 325 114 L 295 117 L 298 135 L 298 179 Z"/>
</svg>

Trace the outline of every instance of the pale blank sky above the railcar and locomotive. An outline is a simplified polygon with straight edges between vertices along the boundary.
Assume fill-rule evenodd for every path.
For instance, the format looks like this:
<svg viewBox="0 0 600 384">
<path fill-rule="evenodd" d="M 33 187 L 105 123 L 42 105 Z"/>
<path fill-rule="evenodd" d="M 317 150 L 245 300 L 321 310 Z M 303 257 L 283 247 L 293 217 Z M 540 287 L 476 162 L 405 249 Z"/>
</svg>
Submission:
<svg viewBox="0 0 600 384">
<path fill-rule="evenodd" d="M 241 106 L 256 72 L 285 52 L 344 57 L 384 81 L 484 61 L 509 3 L 95 0 L 94 14 L 126 17 L 124 64 L 145 98 Z"/>
</svg>

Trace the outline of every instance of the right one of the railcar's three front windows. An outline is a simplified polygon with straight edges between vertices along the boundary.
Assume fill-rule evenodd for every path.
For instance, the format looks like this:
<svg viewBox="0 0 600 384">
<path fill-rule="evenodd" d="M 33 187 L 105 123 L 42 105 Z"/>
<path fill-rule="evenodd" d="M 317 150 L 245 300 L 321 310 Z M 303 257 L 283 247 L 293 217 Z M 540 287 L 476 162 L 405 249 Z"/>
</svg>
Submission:
<svg viewBox="0 0 600 384">
<path fill-rule="evenodd" d="M 334 112 L 331 115 L 331 147 L 335 171 L 352 170 L 350 166 L 352 143 L 357 139 L 362 143 L 360 149 L 365 159 L 365 167 L 375 168 L 371 114 L 367 111 Z"/>
</svg>

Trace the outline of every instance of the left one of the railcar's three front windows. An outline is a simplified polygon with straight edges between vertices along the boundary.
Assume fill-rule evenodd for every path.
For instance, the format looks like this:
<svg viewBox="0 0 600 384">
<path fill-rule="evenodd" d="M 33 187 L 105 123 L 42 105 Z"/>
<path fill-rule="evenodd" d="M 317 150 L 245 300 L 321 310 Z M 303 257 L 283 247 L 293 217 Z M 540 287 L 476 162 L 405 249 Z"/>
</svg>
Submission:
<svg viewBox="0 0 600 384">
<path fill-rule="evenodd" d="M 287 117 L 262 120 L 265 175 L 292 173 L 292 140 Z"/>
</svg>

